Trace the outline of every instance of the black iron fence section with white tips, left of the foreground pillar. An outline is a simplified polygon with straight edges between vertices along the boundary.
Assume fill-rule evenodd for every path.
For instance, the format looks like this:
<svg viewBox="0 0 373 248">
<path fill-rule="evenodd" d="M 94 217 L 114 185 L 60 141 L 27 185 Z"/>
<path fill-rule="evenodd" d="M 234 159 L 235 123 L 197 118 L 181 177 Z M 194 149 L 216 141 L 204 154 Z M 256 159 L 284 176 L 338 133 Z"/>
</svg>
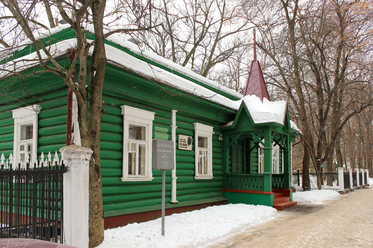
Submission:
<svg viewBox="0 0 373 248">
<path fill-rule="evenodd" d="M 63 243 L 63 173 L 67 170 L 57 153 L 40 163 L 19 162 L 12 157 L 0 168 L 0 237 L 32 238 Z"/>
</svg>

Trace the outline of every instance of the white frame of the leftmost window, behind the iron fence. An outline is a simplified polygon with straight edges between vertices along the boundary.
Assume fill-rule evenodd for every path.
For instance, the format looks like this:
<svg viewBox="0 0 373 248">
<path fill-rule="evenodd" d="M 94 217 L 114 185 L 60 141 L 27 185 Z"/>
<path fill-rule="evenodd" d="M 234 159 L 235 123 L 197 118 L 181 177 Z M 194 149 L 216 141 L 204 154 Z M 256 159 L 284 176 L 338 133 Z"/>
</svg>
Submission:
<svg viewBox="0 0 373 248">
<path fill-rule="evenodd" d="M 38 141 L 38 114 L 40 113 L 40 105 L 34 104 L 32 106 L 22 107 L 12 110 L 12 117 L 14 119 L 14 142 L 13 142 L 13 158 L 14 164 L 18 163 L 18 146 L 20 143 L 21 126 L 32 124 L 32 151 L 29 157 L 29 162 L 36 160 L 37 141 Z M 24 142 L 24 141 L 23 141 Z"/>
</svg>

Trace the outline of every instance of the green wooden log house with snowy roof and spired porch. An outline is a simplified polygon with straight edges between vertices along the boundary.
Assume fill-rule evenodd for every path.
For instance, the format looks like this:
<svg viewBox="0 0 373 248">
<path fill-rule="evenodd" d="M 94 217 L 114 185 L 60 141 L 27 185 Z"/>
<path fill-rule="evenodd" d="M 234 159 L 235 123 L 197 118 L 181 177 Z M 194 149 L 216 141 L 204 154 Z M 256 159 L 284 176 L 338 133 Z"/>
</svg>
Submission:
<svg viewBox="0 0 373 248">
<path fill-rule="evenodd" d="M 87 26 L 91 36 L 92 29 Z M 74 37 L 68 25 L 43 36 L 65 67 Z M 66 146 L 70 133 L 79 144 L 79 129 L 74 103 L 68 123 L 68 88 L 59 77 L 41 73 L 21 79 L 4 71 L 17 59 L 32 58 L 34 47 L 28 41 L 21 45 L 2 61 L 0 152 L 34 160 Z M 106 40 L 106 54 L 105 228 L 160 216 L 162 172 L 151 167 L 154 138 L 175 141 L 176 168 L 166 173 L 166 214 L 225 203 L 274 206 L 275 195 L 291 201 L 291 142 L 300 131 L 285 102 L 270 102 L 250 90 L 243 97 L 115 35 Z M 254 59 L 251 67 L 256 65 L 260 69 Z M 28 61 L 18 73 L 40 70 Z M 251 70 L 248 86 L 254 76 L 264 84 L 261 71 Z M 258 87 L 262 92 L 263 85 Z"/>
</svg>

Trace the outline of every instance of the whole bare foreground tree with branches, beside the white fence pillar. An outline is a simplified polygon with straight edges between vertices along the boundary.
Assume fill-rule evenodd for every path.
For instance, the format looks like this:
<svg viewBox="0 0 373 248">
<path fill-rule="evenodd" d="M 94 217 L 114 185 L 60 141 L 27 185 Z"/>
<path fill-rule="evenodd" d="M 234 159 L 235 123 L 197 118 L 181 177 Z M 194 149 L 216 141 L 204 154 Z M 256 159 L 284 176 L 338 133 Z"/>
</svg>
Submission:
<svg viewBox="0 0 373 248">
<path fill-rule="evenodd" d="M 103 203 L 102 203 L 102 183 L 100 170 L 100 126 L 101 117 L 104 114 L 102 107 L 102 89 L 104 82 L 104 74 L 106 68 L 106 52 L 104 46 L 104 39 L 114 32 L 134 32 L 140 30 L 138 28 L 122 28 L 107 31 L 104 29 L 104 16 L 106 10 L 105 0 L 88 0 L 88 1 L 23 1 L 16 0 L 0 0 L 3 4 L 4 13 L 2 19 L 2 30 L 9 30 L 3 32 L 1 40 L 9 46 L 13 47 L 23 38 L 28 38 L 28 44 L 33 46 L 36 50 L 35 57 L 28 57 L 27 59 L 15 59 L 6 62 L 2 65 L 2 78 L 16 75 L 21 79 L 26 77 L 37 76 L 40 73 L 54 73 L 58 75 L 66 83 L 70 90 L 76 95 L 78 104 L 78 122 L 79 131 L 81 135 L 81 144 L 93 150 L 93 155 L 90 160 L 90 174 L 89 174 L 89 236 L 90 247 L 96 247 L 104 238 L 104 222 L 103 222 Z M 39 4 L 39 5 L 38 5 Z M 51 6 L 57 12 L 55 15 L 62 16 L 75 31 L 76 41 L 72 43 L 72 49 L 67 53 L 70 57 L 70 67 L 65 67 L 65 64 L 60 64 L 58 56 L 61 51 L 58 51 L 58 46 L 46 44 L 35 36 L 35 33 L 40 32 L 39 29 L 48 29 L 45 25 L 38 22 L 38 13 L 35 11 L 36 6 L 40 9 L 42 6 L 46 8 L 47 17 L 51 27 L 54 26 L 53 14 L 51 13 Z M 145 5 L 148 6 L 148 5 Z M 128 6 L 126 6 L 128 7 Z M 132 9 L 131 9 L 132 8 Z M 134 5 L 131 6 L 127 12 L 131 12 Z M 123 8 L 122 8 L 122 11 Z M 9 14 L 9 15 L 8 15 Z M 134 13 L 131 18 L 136 18 Z M 135 20 L 133 20 L 135 21 Z M 94 33 L 94 40 L 87 39 L 86 23 L 91 23 L 93 28 L 89 31 Z M 129 23 L 131 25 L 131 23 Z M 149 29 L 150 27 L 142 27 L 141 29 Z M 90 53 L 90 48 L 93 46 L 93 52 Z M 3 54 L 6 56 L 12 55 L 11 49 L 4 49 Z M 91 57 L 88 64 L 88 57 Z M 77 61 L 79 61 L 78 83 L 75 83 L 75 68 Z M 34 71 L 31 74 L 25 74 L 22 71 L 24 65 L 38 65 L 40 71 Z M 7 72 L 7 73 L 5 73 Z M 90 98 L 88 109 L 88 92 L 86 90 L 87 77 L 90 80 Z M 87 118 L 88 113 L 88 118 Z"/>
</svg>

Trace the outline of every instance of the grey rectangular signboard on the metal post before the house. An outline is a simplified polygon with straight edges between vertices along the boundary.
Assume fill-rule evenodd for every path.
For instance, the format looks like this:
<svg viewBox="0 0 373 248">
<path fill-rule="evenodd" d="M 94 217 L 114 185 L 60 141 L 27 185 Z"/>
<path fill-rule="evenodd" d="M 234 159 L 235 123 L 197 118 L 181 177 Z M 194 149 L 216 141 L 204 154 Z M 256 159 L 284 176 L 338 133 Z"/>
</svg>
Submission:
<svg viewBox="0 0 373 248">
<path fill-rule="evenodd" d="M 153 139 L 153 169 L 173 170 L 175 168 L 174 143 L 166 139 Z"/>
</svg>

